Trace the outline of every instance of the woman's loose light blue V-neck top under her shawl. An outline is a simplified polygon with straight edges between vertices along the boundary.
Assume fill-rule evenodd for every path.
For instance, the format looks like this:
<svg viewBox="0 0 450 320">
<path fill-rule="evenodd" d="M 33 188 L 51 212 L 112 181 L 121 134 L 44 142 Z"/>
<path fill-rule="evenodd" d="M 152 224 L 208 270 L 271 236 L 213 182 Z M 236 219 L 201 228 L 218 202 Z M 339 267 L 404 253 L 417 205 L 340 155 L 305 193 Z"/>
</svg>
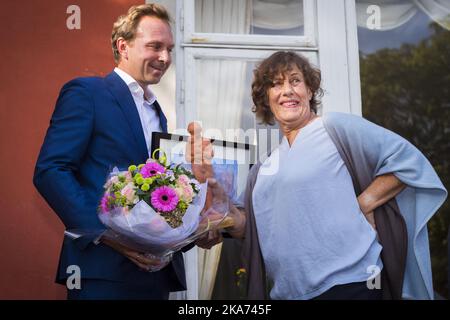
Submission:
<svg viewBox="0 0 450 320">
<path fill-rule="evenodd" d="M 272 299 L 311 299 L 382 269 L 376 232 L 321 118 L 262 164 L 253 209 Z"/>
</svg>

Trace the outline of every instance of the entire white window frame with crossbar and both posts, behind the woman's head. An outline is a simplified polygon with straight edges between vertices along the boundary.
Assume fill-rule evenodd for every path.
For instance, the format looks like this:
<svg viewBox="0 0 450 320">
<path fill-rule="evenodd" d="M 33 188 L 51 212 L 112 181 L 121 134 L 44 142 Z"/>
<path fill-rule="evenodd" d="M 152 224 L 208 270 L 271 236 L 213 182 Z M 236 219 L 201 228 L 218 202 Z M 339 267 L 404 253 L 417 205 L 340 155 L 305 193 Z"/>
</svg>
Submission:
<svg viewBox="0 0 450 320">
<path fill-rule="evenodd" d="M 197 120 L 195 59 L 252 60 L 276 50 L 295 50 L 318 65 L 325 91 L 323 112 L 361 115 L 355 0 L 304 0 L 304 17 L 305 35 L 299 37 L 195 33 L 194 1 L 176 0 L 177 128 Z M 187 298 L 197 299 L 197 255 L 195 250 L 188 254 Z"/>
</svg>

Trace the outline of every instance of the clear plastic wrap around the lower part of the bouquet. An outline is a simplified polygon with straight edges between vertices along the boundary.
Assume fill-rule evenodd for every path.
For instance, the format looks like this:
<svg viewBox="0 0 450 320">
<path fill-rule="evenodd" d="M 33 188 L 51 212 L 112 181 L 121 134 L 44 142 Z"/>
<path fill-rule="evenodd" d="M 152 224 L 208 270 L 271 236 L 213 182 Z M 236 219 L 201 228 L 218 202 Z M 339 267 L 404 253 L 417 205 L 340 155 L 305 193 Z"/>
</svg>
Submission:
<svg viewBox="0 0 450 320">
<path fill-rule="evenodd" d="M 216 203 L 208 210 L 203 210 L 206 194 L 207 183 L 203 183 L 200 192 L 187 208 L 183 223 L 177 228 L 172 228 L 143 200 L 129 211 L 115 208 L 108 213 L 101 212 L 99 218 L 109 228 L 103 237 L 114 239 L 150 257 L 169 257 L 217 228 L 227 216 L 227 202 Z"/>
</svg>

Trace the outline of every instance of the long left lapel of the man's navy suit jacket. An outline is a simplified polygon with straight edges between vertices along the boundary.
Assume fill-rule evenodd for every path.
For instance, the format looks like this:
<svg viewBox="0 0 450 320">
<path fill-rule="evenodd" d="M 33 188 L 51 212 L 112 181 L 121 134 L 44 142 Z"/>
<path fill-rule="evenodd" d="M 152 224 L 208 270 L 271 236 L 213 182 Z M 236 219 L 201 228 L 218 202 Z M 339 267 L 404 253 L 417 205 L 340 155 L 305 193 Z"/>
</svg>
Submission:
<svg viewBox="0 0 450 320">
<path fill-rule="evenodd" d="M 130 89 L 114 71 L 106 76 L 105 81 L 108 90 L 116 98 L 123 111 L 124 118 L 133 132 L 141 158 L 146 160 L 148 158 L 147 144 L 145 142 L 144 131 L 142 130 L 141 119 L 139 118 L 139 113 L 136 109 Z"/>
</svg>

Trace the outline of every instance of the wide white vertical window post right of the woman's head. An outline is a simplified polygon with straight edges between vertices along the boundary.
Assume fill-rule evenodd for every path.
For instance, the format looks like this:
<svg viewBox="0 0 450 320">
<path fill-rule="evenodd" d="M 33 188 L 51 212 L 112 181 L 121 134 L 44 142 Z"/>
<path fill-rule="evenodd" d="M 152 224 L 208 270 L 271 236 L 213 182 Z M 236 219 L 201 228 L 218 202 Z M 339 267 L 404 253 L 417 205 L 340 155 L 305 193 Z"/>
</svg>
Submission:
<svg viewBox="0 0 450 320">
<path fill-rule="evenodd" d="M 361 115 L 355 0 L 317 0 L 317 25 L 323 111 Z"/>
</svg>

